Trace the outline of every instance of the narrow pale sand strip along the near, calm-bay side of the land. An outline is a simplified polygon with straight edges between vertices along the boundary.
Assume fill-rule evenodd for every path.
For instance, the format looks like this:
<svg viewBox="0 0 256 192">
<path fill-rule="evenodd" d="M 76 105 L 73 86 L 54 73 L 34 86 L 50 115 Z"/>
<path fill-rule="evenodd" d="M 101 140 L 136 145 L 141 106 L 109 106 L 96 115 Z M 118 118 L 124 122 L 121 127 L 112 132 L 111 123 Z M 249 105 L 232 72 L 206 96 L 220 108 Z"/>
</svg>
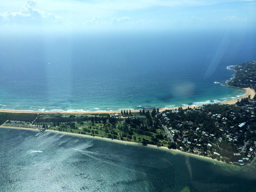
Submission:
<svg viewBox="0 0 256 192">
<path fill-rule="evenodd" d="M 0 125 L 0 129 L 15 129 L 15 130 L 25 130 L 25 131 L 34 131 L 34 132 L 39 132 L 38 129 L 34 128 L 26 128 L 26 127 L 8 127 L 8 126 L 2 126 Z M 172 155 L 184 155 L 187 157 L 193 157 L 199 160 L 205 160 L 211 163 L 218 163 L 219 165 L 224 164 L 222 161 L 218 161 L 217 159 L 212 159 L 211 157 L 207 156 L 199 156 L 198 154 L 193 154 L 193 153 L 187 153 L 187 152 L 182 152 L 179 149 L 169 149 L 168 147 L 162 147 L 162 146 L 156 146 L 156 145 L 151 145 L 148 144 L 147 146 L 144 146 L 142 143 L 136 143 L 136 142 L 131 142 L 131 141 L 122 141 L 122 140 L 116 140 L 116 139 L 109 139 L 106 137 L 99 137 L 99 136 L 90 136 L 90 135 L 84 135 L 84 134 L 78 134 L 78 133 L 70 133 L 70 132 L 60 132 L 60 131 L 55 131 L 55 130 L 45 130 L 44 132 L 52 132 L 52 133 L 57 133 L 57 134 L 62 134 L 62 135 L 69 135 L 69 136 L 76 136 L 76 137 L 84 137 L 84 138 L 90 138 L 90 139 L 97 139 L 97 140 L 104 140 L 104 141 L 110 141 L 114 143 L 119 143 L 123 145 L 131 145 L 131 146 L 139 146 L 139 147 L 148 147 L 151 149 L 160 149 L 164 150 L 167 152 L 170 152 Z"/>
</svg>

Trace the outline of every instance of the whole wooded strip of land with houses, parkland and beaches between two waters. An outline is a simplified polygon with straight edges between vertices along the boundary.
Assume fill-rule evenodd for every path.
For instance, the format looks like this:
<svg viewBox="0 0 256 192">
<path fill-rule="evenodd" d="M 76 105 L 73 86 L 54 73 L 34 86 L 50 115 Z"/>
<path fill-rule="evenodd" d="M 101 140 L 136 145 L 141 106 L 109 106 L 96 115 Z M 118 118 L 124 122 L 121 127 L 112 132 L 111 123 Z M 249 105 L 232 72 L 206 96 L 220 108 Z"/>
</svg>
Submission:
<svg viewBox="0 0 256 192">
<path fill-rule="evenodd" d="M 37 132 L 150 144 L 245 165 L 252 161 L 256 149 L 256 62 L 230 68 L 236 74 L 225 85 L 246 90 L 239 100 L 147 111 L 47 113 L 0 110 L 0 124 Z"/>
</svg>

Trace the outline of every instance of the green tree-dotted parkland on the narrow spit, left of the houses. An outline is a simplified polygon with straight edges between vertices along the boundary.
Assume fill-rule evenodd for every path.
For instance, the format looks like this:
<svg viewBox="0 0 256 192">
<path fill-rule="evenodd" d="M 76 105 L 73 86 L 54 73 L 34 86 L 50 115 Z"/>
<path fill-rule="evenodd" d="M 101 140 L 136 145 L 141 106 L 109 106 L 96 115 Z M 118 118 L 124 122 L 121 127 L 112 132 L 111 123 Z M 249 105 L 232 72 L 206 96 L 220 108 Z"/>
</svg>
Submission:
<svg viewBox="0 0 256 192">
<path fill-rule="evenodd" d="M 17 116 L 14 113 L 2 116 L 2 122 L 5 122 L 3 125 L 38 129 L 47 127 L 61 132 L 140 142 L 144 145 L 167 146 L 168 142 L 164 130 L 154 121 L 149 111 L 145 115 L 130 113 L 129 116 L 121 116 L 121 113 L 112 116 L 109 114 L 104 114 L 106 116 L 99 114 L 23 114 L 15 120 L 12 114 L 15 115 L 14 117 Z"/>
</svg>

